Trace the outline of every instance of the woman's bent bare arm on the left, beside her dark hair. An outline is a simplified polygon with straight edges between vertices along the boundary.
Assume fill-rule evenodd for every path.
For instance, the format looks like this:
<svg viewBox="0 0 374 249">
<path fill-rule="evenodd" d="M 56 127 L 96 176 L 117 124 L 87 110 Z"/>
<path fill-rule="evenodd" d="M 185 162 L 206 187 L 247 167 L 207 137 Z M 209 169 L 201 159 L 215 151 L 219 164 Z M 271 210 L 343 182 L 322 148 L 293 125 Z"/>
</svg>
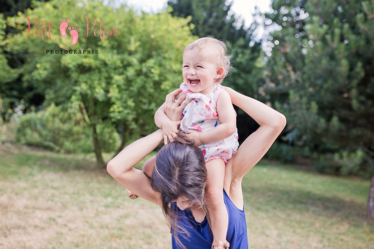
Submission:
<svg viewBox="0 0 374 249">
<path fill-rule="evenodd" d="M 134 165 L 143 160 L 164 140 L 161 129 L 143 137 L 124 148 L 107 164 L 108 173 L 125 188 L 136 195 L 161 205 L 160 194 L 153 191 L 151 178 Z"/>
</svg>

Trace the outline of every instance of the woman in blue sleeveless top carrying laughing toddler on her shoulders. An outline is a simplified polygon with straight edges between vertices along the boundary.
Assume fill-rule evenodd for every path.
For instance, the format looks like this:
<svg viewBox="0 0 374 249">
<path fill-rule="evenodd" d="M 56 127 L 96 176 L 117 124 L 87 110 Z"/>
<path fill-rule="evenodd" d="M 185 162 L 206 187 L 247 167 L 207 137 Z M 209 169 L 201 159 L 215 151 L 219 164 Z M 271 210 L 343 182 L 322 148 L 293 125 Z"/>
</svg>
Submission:
<svg viewBox="0 0 374 249">
<path fill-rule="evenodd" d="M 225 88 L 225 90 L 229 93 L 231 102 L 260 125 L 233 153 L 225 168 L 223 191 L 229 215 L 227 241 L 231 249 L 242 249 L 248 248 L 248 244 L 241 180 L 273 144 L 283 130 L 286 119 L 282 114 L 261 102 L 230 88 Z M 175 103 L 175 97 L 180 91 L 176 90 L 169 94 L 164 106 L 168 117 L 177 123 L 181 119 L 182 110 L 188 104 L 187 101 L 183 102 L 185 96 Z M 178 103 L 182 105 L 179 106 Z M 224 242 L 212 244 L 213 237 L 208 226 L 207 218 L 209 217 L 204 204 L 206 170 L 198 154 L 202 156 L 201 151 L 194 150 L 188 145 L 188 141 L 187 145 L 176 141 L 176 143 L 171 143 L 172 146 L 164 146 L 157 158 L 153 157 L 146 162 L 146 164 L 155 165 L 152 179 L 147 177 L 143 171 L 133 168 L 163 141 L 164 136 L 160 129 L 133 142 L 108 162 L 109 174 L 136 195 L 163 209 L 171 226 L 173 248 L 199 249 L 210 248 L 210 245 L 213 245 L 213 249 L 228 248 L 229 244 Z M 194 156 L 191 157 L 191 154 Z M 178 158 L 181 161 L 180 164 L 189 162 L 191 165 L 175 166 L 174 162 L 177 162 Z M 190 177 L 191 174 L 195 175 Z M 186 177 L 193 182 L 185 181 Z"/>
</svg>

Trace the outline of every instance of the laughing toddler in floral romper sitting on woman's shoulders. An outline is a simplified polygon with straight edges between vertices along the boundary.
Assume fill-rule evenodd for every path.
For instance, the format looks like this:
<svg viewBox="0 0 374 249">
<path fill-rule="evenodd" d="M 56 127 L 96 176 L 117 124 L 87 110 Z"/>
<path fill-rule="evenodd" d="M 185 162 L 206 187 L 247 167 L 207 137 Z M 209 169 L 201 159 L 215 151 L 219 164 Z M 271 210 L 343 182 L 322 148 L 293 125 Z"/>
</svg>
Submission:
<svg viewBox="0 0 374 249">
<path fill-rule="evenodd" d="M 225 163 L 238 147 L 236 114 L 229 94 L 220 85 L 231 69 L 230 56 L 226 53 L 225 44 L 214 38 L 204 37 L 189 44 L 183 53 L 184 82 L 180 86 L 186 100 L 193 99 L 183 110 L 180 129 L 195 140 L 205 158 L 205 200 L 213 245 L 226 242 L 228 216 L 223 201 Z M 177 133 L 177 125 L 165 115 L 163 106 L 156 112 L 155 122 L 163 129 L 164 137 L 173 140 L 172 134 Z M 143 168 L 149 176 L 152 170 L 153 167 Z"/>
</svg>

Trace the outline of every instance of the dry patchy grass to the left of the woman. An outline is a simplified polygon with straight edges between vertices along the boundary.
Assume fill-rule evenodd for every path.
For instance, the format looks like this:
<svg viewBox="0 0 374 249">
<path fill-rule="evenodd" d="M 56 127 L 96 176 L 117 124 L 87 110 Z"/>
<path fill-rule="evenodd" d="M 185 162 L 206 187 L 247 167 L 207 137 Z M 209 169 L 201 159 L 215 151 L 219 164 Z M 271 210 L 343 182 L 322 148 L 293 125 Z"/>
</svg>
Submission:
<svg viewBox="0 0 374 249">
<path fill-rule="evenodd" d="M 0 249 L 170 247 L 160 208 L 92 160 L 14 145 L 0 157 Z"/>
</svg>

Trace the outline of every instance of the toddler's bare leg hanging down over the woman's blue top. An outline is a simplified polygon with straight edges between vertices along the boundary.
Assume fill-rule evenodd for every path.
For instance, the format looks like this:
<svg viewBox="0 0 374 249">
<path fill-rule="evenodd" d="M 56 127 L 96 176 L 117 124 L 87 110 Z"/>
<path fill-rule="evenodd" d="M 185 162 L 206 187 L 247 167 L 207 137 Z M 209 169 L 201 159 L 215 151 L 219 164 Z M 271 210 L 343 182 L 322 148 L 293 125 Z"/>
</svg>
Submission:
<svg viewBox="0 0 374 249">
<path fill-rule="evenodd" d="M 223 179 L 225 163 L 222 159 L 213 159 L 205 163 L 207 170 L 206 202 L 211 220 L 213 241 L 226 241 L 228 215 L 223 201 Z"/>
</svg>

